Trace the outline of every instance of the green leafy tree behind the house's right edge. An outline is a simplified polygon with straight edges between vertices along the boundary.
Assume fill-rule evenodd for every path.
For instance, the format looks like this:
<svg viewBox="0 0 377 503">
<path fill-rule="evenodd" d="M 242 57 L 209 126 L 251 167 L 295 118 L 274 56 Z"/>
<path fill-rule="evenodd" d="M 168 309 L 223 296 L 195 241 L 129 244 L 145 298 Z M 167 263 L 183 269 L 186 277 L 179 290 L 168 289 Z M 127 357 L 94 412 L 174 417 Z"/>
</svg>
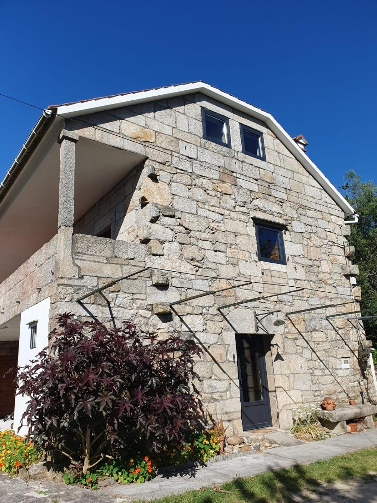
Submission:
<svg viewBox="0 0 377 503">
<path fill-rule="evenodd" d="M 361 314 L 377 315 L 377 185 L 361 182 L 360 175 L 353 170 L 346 173 L 346 199 L 359 215 L 356 224 L 351 225 L 349 244 L 355 247 L 350 257 L 359 266 L 357 283 L 361 287 Z M 364 320 L 367 339 L 377 347 L 377 318 Z"/>
</svg>

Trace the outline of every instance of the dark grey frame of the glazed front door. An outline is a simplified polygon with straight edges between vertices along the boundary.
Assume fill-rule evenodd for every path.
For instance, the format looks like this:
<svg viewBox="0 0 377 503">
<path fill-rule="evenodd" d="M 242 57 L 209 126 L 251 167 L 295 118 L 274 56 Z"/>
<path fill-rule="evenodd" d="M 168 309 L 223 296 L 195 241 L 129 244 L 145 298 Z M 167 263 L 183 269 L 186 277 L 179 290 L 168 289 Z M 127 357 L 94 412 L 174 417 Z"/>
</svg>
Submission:
<svg viewBox="0 0 377 503">
<path fill-rule="evenodd" d="M 265 336 L 264 336 L 265 337 Z M 272 426 L 272 415 L 271 415 L 271 407 L 270 407 L 270 401 L 269 401 L 269 390 L 268 390 L 268 380 L 267 380 L 267 371 L 266 371 L 266 362 L 265 362 L 265 349 L 264 349 L 264 344 L 263 344 L 263 336 L 260 334 L 249 334 L 249 333 L 236 333 L 236 348 L 238 349 L 239 347 L 239 341 L 240 339 L 249 339 L 252 338 L 254 341 L 257 341 L 257 349 L 259 352 L 259 365 L 260 365 L 260 377 L 261 377 L 261 386 L 262 386 L 262 392 L 263 392 L 263 400 L 257 400 L 255 402 L 244 402 L 243 399 L 243 392 L 242 392 L 242 378 L 241 378 L 241 366 L 240 366 L 240 358 L 239 358 L 239 353 L 237 351 L 237 369 L 238 369 L 238 382 L 240 386 L 240 401 L 241 401 L 241 418 L 242 418 L 242 427 L 245 431 L 247 430 L 257 430 L 259 428 L 267 428 L 269 426 Z M 245 409 L 247 407 L 246 403 L 249 404 L 255 404 L 255 405 L 260 405 L 266 407 L 266 412 L 267 412 L 267 421 L 265 424 L 261 424 L 260 426 L 252 426 L 252 425 L 247 425 L 244 424 L 244 415 L 245 415 Z M 253 405 L 249 405 L 248 408 L 252 408 Z"/>
</svg>

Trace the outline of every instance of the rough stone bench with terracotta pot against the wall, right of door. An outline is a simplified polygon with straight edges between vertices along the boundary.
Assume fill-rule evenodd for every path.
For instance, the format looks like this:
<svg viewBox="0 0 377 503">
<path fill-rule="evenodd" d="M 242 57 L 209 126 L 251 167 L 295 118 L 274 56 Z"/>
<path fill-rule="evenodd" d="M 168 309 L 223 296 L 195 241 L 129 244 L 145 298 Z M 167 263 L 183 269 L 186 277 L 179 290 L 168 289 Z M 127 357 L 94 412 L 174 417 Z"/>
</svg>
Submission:
<svg viewBox="0 0 377 503">
<path fill-rule="evenodd" d="M 335 410 L 321 410 L 319 420 L 323 427 L 328 428 L 336 435 L 347 433 L 346 421 L 363 417 L 368 428 L 373 428 L 373 414 L 377 406 L 365 403 L 364 405 L 349 405 L 337 407 Z"/>
</svg>

